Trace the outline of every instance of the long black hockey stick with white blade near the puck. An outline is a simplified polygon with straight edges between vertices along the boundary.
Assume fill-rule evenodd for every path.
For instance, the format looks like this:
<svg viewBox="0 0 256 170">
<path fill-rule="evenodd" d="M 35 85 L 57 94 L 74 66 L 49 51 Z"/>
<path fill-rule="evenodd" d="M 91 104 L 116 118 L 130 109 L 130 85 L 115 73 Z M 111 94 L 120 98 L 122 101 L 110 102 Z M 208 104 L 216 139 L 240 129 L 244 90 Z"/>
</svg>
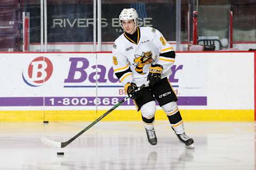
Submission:
<svg viewBox="0 0 256 170">
<path fill-rule="evenodd" d="M 139 91 L 141 89 L 143 89 L 145 86 L 148 85 L 148 81 L 143 84 L 142 86 L 140 86 L 137 90 L 135 91 Z M 48 139 L 46 137 L 42 137 L 41 141 L 43 143 L 45 143 L 48 146 L 52 146 L 52 147 L 57 147 L 57 148 L 65 148 L 67 145 L 69 145 L 69 143 L 73 142 L 76 138 L 78 138 L 81 134 L 83 134 L 85 131 L 87 131 L 88 129 L 90 129 L 94 124 L 96 124 L 97 122 L 99 122 L 100 120 L 102 120 L 102 118 L 104 118 L 105 116 L 107 116 L 110 112 L 114 111 L 114 109 L 116 109 L 118 106 L 120 106 L 121 104 L 124 103 L 124 101 L 128 100 L 130 98 L 130 96 L 126 96 L 123 100 L 119 101 L 118 104 L 116 104 L 115 106 L 113 106 L 112 108 L 109 109 L 109 111 L 107 111 L 106 113 L 104 113 L 103 115 L 101 115 L 99 118 L 97 118 L 97 120 L 95 120 L 94 122 L 92 122 L 90 125 L 88 125 L 85 129 L 83 129 L 81 132 L 77 133 L 73 138 L 69 139 L 66 142 L 57 142 L 51 139 Z"/>
</svg>

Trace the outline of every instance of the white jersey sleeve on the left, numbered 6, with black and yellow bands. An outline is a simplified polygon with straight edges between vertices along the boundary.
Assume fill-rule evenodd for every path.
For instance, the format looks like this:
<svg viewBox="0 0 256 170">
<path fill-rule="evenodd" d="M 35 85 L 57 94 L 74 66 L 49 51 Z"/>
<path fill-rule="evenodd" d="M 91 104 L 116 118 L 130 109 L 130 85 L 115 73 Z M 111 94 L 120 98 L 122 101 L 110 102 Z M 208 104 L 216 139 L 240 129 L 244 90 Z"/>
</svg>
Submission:
<svg viewBox="0 0 256 170">
<path fill-rule="evenodd" d="M 112 48 L 113 55 L 113 69 L 116 77 L 122 84 L 132 82 L 132 71 L 130 69 L 129 61 L 125 55 L 122 54 L 122 48 L 120 44 L 116 45 L 116 42 Z M 120 45 L 122 46 L 122 45 Z"/>
</svg>

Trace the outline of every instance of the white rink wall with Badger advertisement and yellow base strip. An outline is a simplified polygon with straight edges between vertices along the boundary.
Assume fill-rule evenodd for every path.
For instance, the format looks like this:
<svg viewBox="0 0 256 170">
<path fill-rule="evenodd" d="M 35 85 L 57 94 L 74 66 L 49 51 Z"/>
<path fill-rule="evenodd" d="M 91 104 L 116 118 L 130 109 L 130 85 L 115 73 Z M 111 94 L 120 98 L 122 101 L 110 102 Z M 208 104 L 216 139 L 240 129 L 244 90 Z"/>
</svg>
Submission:
<svg viewBox="0 0 256 170">
<path fill-rule="evenodd" d="M 0 53 L 0 121 L 93 121 L 125 97 L 111 53 Z M 169 77 L 185 121 L 254 121 L 254 52 L 180 52 Z M 98 81 L 96 81 L 98 77 Z M 102 121 L 137 121 L 128 100 Z M 157 106 L 156 120 L 167 120 Z"/>
</svg>

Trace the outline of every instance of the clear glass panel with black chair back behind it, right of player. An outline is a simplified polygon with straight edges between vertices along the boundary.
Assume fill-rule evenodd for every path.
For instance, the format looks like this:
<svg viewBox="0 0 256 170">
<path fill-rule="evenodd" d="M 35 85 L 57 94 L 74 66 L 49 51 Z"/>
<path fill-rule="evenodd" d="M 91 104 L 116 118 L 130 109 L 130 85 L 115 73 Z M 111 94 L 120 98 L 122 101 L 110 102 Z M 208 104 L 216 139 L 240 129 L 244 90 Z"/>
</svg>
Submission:
<svg viewBox="0 0 256 170">
<path fill-rule="evenodd" d="M 230 25 L 229 0 L 199 1 L 197 21 L 197 42 L 204 45 L 204 50 L 228 48 Z"/>
</svg>

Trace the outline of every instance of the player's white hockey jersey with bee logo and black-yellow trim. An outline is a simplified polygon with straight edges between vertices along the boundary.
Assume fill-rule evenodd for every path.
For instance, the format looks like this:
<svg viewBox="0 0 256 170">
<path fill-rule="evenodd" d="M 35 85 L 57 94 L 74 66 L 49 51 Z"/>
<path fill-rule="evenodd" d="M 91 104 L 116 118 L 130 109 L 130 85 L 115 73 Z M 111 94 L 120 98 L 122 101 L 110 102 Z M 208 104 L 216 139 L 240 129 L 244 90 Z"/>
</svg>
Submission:
<svg viewBox="0 0 256 170">
<path fill-rule="evenodd" d="M 169 76 L 174 58 L 159 56 L 173 51 L 162 33 L 152 27 L 138 27 L 138 39 L 134 42 L 123 33 L 113 45 L 113 69 L 122 84 L 134 82 L 141 86 L 147 81 L 149 66 L 161 64 L 162 78 Z"/>
</svg>

